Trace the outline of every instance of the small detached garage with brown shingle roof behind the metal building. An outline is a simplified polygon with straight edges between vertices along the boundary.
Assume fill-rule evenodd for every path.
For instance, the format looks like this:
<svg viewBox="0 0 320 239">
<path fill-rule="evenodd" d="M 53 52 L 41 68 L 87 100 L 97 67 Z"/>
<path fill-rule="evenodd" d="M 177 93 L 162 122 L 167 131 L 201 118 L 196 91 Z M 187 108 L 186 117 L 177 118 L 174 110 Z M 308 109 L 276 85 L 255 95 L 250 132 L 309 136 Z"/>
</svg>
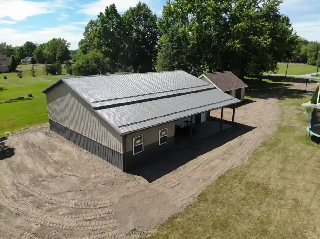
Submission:
<svg viewBox="0 0 320 239">
<path fill-rule="evenodd" d="M 244 100 L 244 90 L 248 86 L 231 71 L 207 73 L 201 75 L 199 79 L 241 101 Z"/>
</svg>

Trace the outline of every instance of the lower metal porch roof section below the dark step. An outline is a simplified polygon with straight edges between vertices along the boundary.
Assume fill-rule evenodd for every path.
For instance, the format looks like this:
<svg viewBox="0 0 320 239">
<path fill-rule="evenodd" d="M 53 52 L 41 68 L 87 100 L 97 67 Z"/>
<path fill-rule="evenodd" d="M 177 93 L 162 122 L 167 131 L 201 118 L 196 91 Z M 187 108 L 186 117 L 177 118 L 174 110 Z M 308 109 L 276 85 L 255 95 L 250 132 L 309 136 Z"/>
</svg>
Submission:
<svg viewBox="0 0 320 239">
<path fill-rule="evenodd" d="M 213 89 L 101 109 L 97 113 L 121 134 L 126 134 L 238 102 L 236 98 Z"/>
</svg>

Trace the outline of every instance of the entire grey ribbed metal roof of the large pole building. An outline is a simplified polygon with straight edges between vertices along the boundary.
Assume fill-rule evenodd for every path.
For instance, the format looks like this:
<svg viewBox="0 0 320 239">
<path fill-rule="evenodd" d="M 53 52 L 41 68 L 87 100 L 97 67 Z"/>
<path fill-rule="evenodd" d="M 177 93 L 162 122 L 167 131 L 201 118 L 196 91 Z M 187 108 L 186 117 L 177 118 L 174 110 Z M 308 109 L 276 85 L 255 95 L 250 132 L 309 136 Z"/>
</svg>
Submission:
<svg viewBox="0 0 320 239">
<path fill-rule="evenodd" d="M 184 71 L 61 78 L 121 135 L 240 102 Z"/>
</svg>

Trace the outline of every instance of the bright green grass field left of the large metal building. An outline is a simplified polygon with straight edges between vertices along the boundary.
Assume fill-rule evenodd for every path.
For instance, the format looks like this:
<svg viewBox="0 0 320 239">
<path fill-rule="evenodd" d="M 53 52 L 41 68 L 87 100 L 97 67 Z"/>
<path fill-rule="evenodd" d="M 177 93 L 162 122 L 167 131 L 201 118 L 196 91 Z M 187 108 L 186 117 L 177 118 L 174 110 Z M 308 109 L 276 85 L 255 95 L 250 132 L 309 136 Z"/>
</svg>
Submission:
<svg viewBox="0 0 320 239">
<path fill-rule="evenodd" d="M 47 123 L 47 102 L 45 94 L 41 91 L 61 77 L 69 76 L 65 74 L 63 65 L 62 75 L 47 76 L 42 70 L 44 64 L 35 64 L 36 77 L 32 77 L 31 66 L 31 64 L 19 64 L 17 70 L 23 71 L 23 78 L 18 78 L 15 72 L 0 74 L 0 101 L 26 96 L 28 93 L 35 96 L 35 99 L 29 101 L 0 104 L 0 137 L 27 127 Z M 7 79 L 4 79 L 4 76 Z"/>
</svg>

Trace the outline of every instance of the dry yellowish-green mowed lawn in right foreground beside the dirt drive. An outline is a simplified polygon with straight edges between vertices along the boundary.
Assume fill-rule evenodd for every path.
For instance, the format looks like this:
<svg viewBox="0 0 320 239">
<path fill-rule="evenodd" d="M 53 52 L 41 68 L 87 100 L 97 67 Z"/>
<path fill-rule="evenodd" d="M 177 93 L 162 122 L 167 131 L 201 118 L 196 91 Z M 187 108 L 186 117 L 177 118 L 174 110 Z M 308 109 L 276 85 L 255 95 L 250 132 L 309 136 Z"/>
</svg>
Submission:
<svg viewBox="0 0 320 239">
<path fill-rule="evenodd" d="M 148 238 L 319 238 L 320 150 L 300 106 L 309 99 L 280 100 L 276 133 Z"/>
</svg>

